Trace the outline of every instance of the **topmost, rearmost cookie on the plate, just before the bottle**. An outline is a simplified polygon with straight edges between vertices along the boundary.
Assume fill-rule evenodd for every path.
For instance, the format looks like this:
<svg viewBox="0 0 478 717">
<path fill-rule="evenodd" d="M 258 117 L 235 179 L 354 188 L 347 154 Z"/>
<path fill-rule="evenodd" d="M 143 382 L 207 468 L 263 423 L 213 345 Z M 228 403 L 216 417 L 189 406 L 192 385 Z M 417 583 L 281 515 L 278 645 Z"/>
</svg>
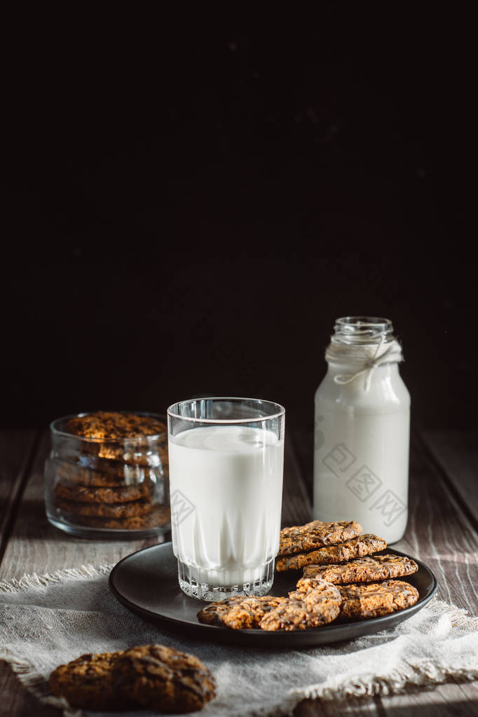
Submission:
<svg viewBox="0 0 478 717">
<path fill-rule="evenodd" d="M 304 553 L 325 545 L 335 545 L 355 538 L 362 532 L 362 526 L 355 521 L 322 523 L 312 521 L 305 526 L 282 528 L 280 531 L 279 555 Z"/>
</svg>

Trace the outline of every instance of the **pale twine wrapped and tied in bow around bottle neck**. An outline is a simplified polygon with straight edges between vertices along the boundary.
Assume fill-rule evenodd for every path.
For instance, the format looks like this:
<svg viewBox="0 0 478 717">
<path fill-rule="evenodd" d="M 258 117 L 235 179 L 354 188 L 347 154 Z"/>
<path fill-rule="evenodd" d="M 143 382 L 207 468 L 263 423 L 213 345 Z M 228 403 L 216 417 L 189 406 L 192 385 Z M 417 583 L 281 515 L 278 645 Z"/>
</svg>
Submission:
<svg viewBox="0 0 478 717">
<path fill-rule="evenodd" d="M 330 361 L 334 364 L 343 364 L 345 361 L 348 361 L 362 366 L 358 371 L 355 371 L 355 374 L 337 374 L 333 378 L 334 383 L 345 386 L 345 384 L 351 384 L 352 381 L 358 379 L 359 376 L 365 376 L 363 388 L 365 391 L 368 391 L 371 386 L 373 371 L 378 368 L 378 366 L 383 366 L 383 364 L 399 364 L 403 361 L 401 346 L 396 339 L 393 339 L 386 350 L 380 353 L 384 343 L 384 335 L 375 347 L 370 345 L 360 346 L 360 344 L 330 343 L 325 350 L 326 361 Z"/>
</svg>

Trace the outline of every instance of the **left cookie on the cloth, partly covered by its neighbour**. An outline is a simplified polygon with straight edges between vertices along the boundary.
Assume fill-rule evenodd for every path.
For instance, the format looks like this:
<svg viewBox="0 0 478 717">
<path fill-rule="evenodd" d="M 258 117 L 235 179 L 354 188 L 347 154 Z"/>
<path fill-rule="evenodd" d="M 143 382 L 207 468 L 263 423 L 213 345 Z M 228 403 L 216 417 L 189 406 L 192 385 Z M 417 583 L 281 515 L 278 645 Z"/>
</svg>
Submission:
<svg viewBox="0 0 478 717">
<path fill-rule="evenodd" d="M 82 655 L 67 665 L 59 665 L 49 676 L 49 687 L 70 706 L 89 710 L 124 710 L 135 703 L 118 691 L 113 665 L 123 652 Z"/>
</svg>

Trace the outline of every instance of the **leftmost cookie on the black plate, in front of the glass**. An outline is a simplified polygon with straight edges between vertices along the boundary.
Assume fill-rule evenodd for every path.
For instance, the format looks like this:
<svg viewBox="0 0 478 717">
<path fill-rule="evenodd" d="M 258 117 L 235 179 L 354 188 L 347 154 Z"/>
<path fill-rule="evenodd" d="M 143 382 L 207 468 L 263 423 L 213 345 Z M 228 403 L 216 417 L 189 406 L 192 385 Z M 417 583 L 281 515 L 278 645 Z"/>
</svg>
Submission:
<svg viewBox="0 0 478 717">
<path fill-rule="evenodd" d="M 285 597 L 230 597 L 223 602 L 211 602 L 198 612 L 199 622 L 206 625 L 230 627 L 231 630 L 244 630 L 259 627 L 259 622 L 267 612 L 285 602 Z"/>
</svg>

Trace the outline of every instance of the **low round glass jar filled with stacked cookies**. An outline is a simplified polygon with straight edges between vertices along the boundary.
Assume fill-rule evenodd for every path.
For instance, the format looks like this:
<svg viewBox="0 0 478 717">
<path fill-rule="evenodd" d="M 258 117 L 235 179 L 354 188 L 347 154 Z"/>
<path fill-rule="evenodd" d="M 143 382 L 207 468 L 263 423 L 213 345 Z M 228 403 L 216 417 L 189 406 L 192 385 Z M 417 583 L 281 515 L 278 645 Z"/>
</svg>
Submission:
<svg viewBox="0 0 478 717">
<path fill-rule="evenodd" d="M 103 417 L 112 416 L 117 422 L 124 419 L 120 432 L 108 433 L 111 422 L 101 423 Z M 128 434 L 132 424 L 135 430 Z M 141 435 L 141 426 L 150 435 Z M 86 435 L 78 435 L 78 430 Z M 139 538 L 170 530 L 168 432 L 163 416 L 76 414 L 52 422 L 50 435 L 44 470 L 50 523 L 86 537 Z"/>
</svg>

